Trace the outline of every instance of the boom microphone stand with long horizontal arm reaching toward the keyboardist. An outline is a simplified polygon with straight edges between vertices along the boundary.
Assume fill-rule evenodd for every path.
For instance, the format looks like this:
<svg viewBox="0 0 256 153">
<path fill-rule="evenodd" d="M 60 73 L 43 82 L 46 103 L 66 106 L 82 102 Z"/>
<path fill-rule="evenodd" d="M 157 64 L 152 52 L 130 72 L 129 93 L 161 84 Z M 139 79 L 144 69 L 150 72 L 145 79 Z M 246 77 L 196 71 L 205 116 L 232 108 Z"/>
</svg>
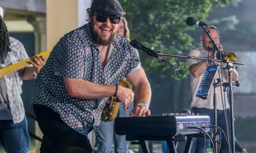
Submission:
<svg viewBox="0 0 256 153">
<path fill-rule="evenodd" d="M 206 58 L 206 57 L 196 57 L 196 56 L 188 56 L 188 55 L 177 55 L 177 54 L 169 54 L 169 53 L 161 53 L 157 52 L 159 56 L 171 56 L 171 57 L 180 57 L 180 58 L 190 58 L 190 59 L 196 59 L 196 60 L 204 60 L 204 61 L 215 61 L 215 62 L 222 62 L 222 63 L 227 63 L 228 64 L 228 69 L 229 69 L 229 96 L 230 96 L 230 111 L 231 111 L 231 126 L 232 126 L 232 149 L 233 153 L 235 153 L 235 133 L 234 133 L 234 111 L 233 111 L 233 90 L 232 90 L 232 69 L 235 68 L 234 66 L 230 66 L 232 63 L 233 65 L 244 65 L 244 62 L 238 62 L 238 61 L 229 61 L 229 60 L 218 60 L 218 59 L 211 59 L 211 58 Z M 216 149 L 217 150 L 217 149 Z"/>
</svg>

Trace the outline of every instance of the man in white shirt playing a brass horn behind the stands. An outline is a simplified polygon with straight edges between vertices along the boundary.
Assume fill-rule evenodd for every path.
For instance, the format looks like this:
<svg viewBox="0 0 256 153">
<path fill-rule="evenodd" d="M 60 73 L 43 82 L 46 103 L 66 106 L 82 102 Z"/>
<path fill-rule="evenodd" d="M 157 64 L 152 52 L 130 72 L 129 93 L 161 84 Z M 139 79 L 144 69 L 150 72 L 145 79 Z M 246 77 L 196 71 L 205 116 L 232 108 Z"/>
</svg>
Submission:
<svg viewBox="0 0 256 153">
<path fill-rule="evenodd" d="M 217 46 L 219 46 L 219 37 L 218 33 L 215 29 L 207 28 L 207 31 L 210 31 L 210 35 L 214 39 Z M 198 56 L 198 57 L 210 57 L 213 58 L 213 51 L 208 51 L 208 48 L 212 48 L 213 45 L 210 42 L 210 39 L 206 32 L 204 31 L 202 36 L 200 36 L 200 40 L 202 45 L 195 50 L 191 50 L 189 52 L 190 56 Z M 191 108 L 193 109 L 195 114 L 199 115 L 207 115 L 211 118 L 211 124 L 214 124 L 214 103 L 213 103 L 213 96 L 214 96 L 214 87 L 213 85 L 210 88 L 209 95 L 207 96 L 207 100 L 202 100 L 199 97 L 196 97 L 197 89 L 201 83 L 202 77 L 207 67 L 211 65 L 211 61 L 203 61 L 203 60 L 187 60 L 187 66 L 189 68 L 191 74 L 191 89 L 192 89 L 192 102 Z M 220 64 L 219 64 L 220 65 Z M 224 65 L 224 63 L 222 64 Z M 228 82 L 228 70 L 226 68 L 222 68 L 223 71 L 223 82 Z M 233 71 L 232 80 L 238 80 L 238 73 L 235 69 Z M 220 72 L 220 70 L 219 70 Z M 222 76 L 220 73 L 217 72 L 216 78 L 220 78 L 222 80 Z M 227 99 L 227 93 L 224 92 L 223 87 L 218 86 L 216 88 L 217 93 L 217 126 L 222 128 L 227 136 L 227 128 L 226 128 L 226 120 L 224 115 L 224 110 L 227 111 L 227 121 L 228 121 L 228 128 L 229 128 L 229 137 L 231 142 L 231 126 L 230 126 L 230 107 L 229 102 Z M 223 97 L 223 100 L 222 100 Z M 223 103 L 222 103 L 223 102 Z M 224 136 L 222 136 L 222 143 L 220 153 L 228 153 L 228 144 Z M 207 140 L 207 144 L 210 141 Z M 231 143 L 230 143 L 231 144 Z M 207 145 L 209 147 L 209 145 Z M 196 153 L 204 153 L 205 148 L 205 141 L 204 138 L 197 139 L 197 150 Z"/>
</svg>

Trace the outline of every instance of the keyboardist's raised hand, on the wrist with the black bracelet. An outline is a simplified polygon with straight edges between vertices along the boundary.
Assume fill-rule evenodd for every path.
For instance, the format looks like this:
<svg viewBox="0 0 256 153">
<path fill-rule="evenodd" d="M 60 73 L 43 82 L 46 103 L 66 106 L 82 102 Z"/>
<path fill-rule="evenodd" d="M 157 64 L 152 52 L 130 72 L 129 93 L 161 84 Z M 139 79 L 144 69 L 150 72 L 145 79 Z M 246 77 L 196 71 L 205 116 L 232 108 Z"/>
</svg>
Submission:
<svg viewBox="0 0 256 153">
<path fill-rule="evenodd" d="M 133 102 L 134 92 L 132 89 L 118 85 L 117 98 L 123 102 L 123 110 L 126 110 Z"/>
</svg>

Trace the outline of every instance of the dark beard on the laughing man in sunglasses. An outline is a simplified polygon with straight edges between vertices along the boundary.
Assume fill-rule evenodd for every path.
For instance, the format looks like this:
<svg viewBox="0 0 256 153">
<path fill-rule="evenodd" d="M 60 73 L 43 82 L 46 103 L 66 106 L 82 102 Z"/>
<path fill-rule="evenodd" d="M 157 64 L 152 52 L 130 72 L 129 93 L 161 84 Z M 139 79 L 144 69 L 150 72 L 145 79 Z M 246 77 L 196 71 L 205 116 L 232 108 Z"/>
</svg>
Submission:
<svg viewBox="0 0 256 153">
<path fill-rule="evenodd" d="M 90 29 L 90 32 L 93 36 L 93 41 L 95 43 L 99 44 L 99 45 L 102 45 L 102 46 L 108 46 L 111 43 L 113 43 L 115 35 L 117 34 L 117 33 L 112 33 L 111 36 L 110 36 L 110 39 L 104 40 L 101 37 L 101 35 L 98 34 L 98 32 L 93 31 L 93 23 L 92 22 L 89 22 L 89 29 Z"/>
</svg>

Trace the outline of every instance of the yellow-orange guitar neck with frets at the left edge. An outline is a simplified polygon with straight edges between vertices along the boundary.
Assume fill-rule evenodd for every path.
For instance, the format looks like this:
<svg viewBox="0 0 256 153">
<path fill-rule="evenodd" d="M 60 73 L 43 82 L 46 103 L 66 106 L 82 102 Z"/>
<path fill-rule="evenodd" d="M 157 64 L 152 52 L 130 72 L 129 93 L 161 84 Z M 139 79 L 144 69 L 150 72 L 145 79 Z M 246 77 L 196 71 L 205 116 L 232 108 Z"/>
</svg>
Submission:
<svg viewBox="0 0 256 153">
<path fill-rule="evenodd" d="M 44 52 L 41 52 L 41 53 L 39 53 L 39 54 L 37 54 L 35 56 L 45 56 L 45 57 L 48 57 L 51 51 L 52 50 L 44 51 Z M 35 56 L 33 56 L 33 57 L 35 57 Z M 24 59 L 24 60 L 22 60 L 22 61 L 20 61 L 18 63 L 10 65 L 10 66 L 1 68 L 0 69 L 0 78 L 4 77 L 4 76 L 6 76 L 6 75 L 8 75 L 8 74 L 10 74 L 12 72 L 15 72 L 15 71 L 17 71 L 17 70 L 19 70 L 21 68 L 27 67 L 28 65 L 30 65 L 31 58 L 32 57 Z"/>
</svg>

